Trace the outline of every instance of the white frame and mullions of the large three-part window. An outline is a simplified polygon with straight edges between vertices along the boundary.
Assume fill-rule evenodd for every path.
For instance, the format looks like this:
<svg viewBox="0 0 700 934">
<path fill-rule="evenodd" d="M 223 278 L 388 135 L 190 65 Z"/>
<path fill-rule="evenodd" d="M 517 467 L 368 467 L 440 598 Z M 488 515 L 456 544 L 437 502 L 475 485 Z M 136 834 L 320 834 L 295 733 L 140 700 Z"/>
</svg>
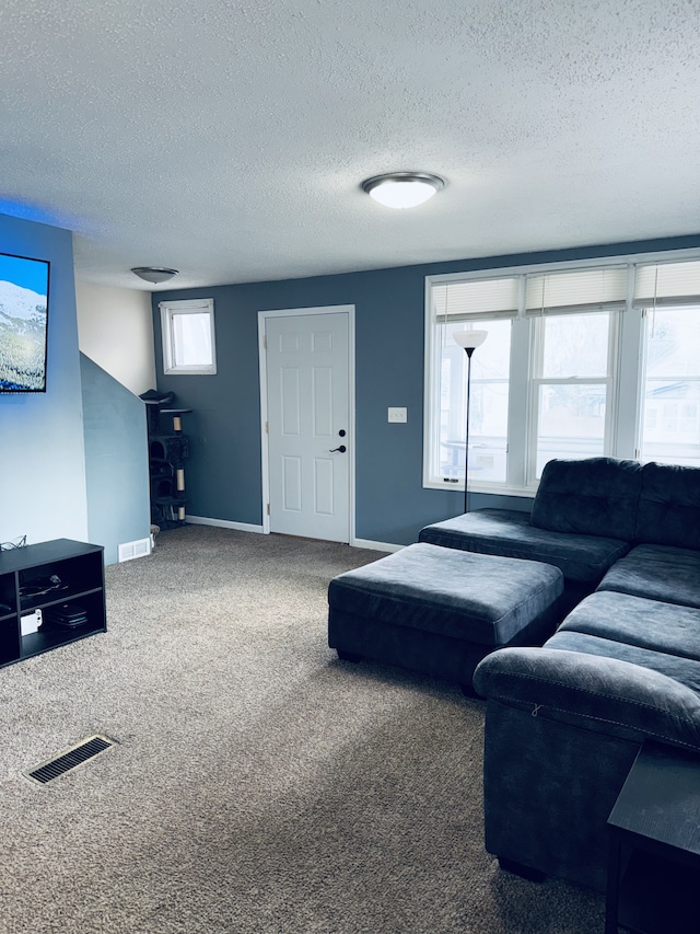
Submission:
<svg viewBox="0 0 700 934">
<path fill-rule="evenodd" d="M 533 419 L 536 411 L 533 406 L 533 355 L 535 353 L 534 318 L 526 314 L 525 277 L 534 274 L 576 272 L 586 268 L 606 266 L 627 267 L 627 300 L 625 309 L 611 312 L 617 319 L 612 325 L 615 333 L 610 335 L 609 353 L 611 355 L 610 373 L 611 388 L 608 410 L 606 411 L 606 445 L 605 454 L 616 458 L 639 459 L 641 414 L 643 408 L 644 379 L 644 328 L 642 326 L 642 309 L 634 300 L 634 281 L 638 266 L 646 264 L 691 263 L 700 262 L 700 250 L 673 250 L 654 253 L 637 253 L 617 256 L 604 256 L 582 261 L 545 263 L 537 265 L 492 267 L 469 273 L 451 273 L 425 277 L 425 319 L 424 319 L 424 405 L 423 405 L 423 487 L 429 489 L 445 489 L 447 484 L 431 475 L 431 438 L 434 443 L 435 433 L 439 433 L 440 406 L 433 404 L 439 382 L 435 382 L 438 349 L 433 327 L 434 310 L 432 305 L 432 288 L 445 282 L 459 282 L 472 279 L 505 278 L 522 276 L 520 291 L 521 302 L 517 318 L 513 319 L 510 405 L 509 405 L 509 438 L 508 438 L 508 480 L 505 483 L 487 483 L 469 480 L 469 491 L 490 493 L 502 496 L 533 497 L 537 492 L 538 481 L 535 478 L 534 464 L 536 452 L 533 450 Z M 475 315 L 475 326 L 477 323 Z M 478 350 L 477 350 L 478 353 Z M 438 367 L 439 369 L 439 367 Z M 438 388 L 438 389 L 436 389 Z M 464 488 L 455 484 L 450 488 Z"/>
</svg>

